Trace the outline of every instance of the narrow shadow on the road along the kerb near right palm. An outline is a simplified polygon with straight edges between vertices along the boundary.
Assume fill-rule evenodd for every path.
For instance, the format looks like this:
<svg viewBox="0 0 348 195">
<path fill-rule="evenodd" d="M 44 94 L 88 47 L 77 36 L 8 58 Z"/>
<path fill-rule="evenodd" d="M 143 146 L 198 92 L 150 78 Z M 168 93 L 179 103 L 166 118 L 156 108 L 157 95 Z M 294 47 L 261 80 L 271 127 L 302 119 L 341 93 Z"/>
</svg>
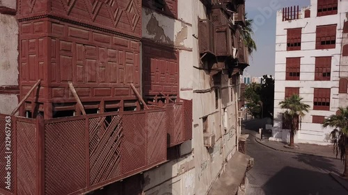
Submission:
<svg viewBox="0 0 348 195">
<path fill-rule="evenodd" d="M 334 173 L 340 174 L 340 170 L 335 169 L 335 165 L 333 164 L 333 159 L 324 158 L 324 157 L 316 156 L 316 155 L 306 155 L 306 154 L 297 154 L 293 158 L 299 162 L 308 164 L 321 171 L 334 172 Z"/>
</svg>

